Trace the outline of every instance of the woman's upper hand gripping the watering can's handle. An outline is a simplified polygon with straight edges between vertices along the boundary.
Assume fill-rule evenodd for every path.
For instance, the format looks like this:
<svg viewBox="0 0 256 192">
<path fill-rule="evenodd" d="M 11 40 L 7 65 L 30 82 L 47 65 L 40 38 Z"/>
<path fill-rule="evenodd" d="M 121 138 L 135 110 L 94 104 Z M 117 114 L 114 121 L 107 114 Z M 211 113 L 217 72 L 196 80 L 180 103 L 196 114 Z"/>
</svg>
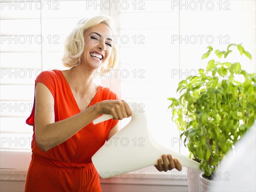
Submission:
<svg viewBox="0 0 256 192">
<path fill-rule="evenodd" d="M 99 115 L 102 113 L 112 115 L 113 119 L 122 120 L 132 114 L 128 103 L 124 100 L 105 100 L 94 104 L 92 108 Z"/>
</svg>

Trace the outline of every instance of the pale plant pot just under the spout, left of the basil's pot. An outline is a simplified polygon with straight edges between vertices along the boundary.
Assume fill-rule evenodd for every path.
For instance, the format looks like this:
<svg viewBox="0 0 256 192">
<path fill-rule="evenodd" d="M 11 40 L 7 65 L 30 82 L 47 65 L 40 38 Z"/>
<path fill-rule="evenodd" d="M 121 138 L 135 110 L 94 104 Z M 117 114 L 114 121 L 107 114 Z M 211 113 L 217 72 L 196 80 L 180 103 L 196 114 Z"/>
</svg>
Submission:
<svg viewBox="0 0 256 192">
<path fill-rule="evenodd" d="M 201 172 L 195 169 L 187 168 L 189 192 L 200 192 Z"/>
</svg>

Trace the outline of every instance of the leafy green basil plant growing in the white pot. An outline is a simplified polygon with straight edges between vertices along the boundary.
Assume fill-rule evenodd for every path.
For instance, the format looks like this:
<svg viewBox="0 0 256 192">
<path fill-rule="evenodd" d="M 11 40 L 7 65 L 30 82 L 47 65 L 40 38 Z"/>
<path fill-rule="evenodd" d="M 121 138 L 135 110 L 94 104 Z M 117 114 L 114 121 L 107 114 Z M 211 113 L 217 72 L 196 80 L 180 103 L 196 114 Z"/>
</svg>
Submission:
<svg viewBox="0 0 256 192">
<path fill-rule="evenodd" d="M 211 59 L 206 70 L 200 69 L 198 75 L 180 81 L 178 99 L 168 99 L 172 101 L 172 120 L 181 131 L 180 138 L 189 149 L 189 157 L 200 162 L 200 169 L 210 177 L 256 119 L 256 76 L 241 70 L 239 62 L 226 61 L 234 53 L 231 48 L 251 59 L 241 44 L 229 44 L 224 51 L 207 48 L 202 59 L 211 53 L 216 59 Z"/>
</svg>

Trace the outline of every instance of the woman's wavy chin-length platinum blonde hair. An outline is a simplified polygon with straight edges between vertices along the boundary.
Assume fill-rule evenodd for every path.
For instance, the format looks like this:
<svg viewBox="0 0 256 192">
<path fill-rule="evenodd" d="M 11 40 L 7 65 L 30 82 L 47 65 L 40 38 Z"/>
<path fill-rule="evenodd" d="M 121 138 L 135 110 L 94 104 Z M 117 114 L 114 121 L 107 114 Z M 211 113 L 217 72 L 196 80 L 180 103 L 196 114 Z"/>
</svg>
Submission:
<svg viewBox="0 0 256 192">
<path fill-rule="evenodd" d="M 98 15 L 91 18 L 85 18 L 79 20 L 76 27 L 67 36 L 65 41 L 64 55 L 62 58 L 62 63 L 65 67 L 75 67 L 81 63 L 81 55 L 84 51 L 84 31 L 92 26 L 96 26 L 99 23 L 104 23 L 110 27 L 114 33 L 114 20 L 108 15 Z M 117 61 L 117 45 L 116 42 L 112 43 L 112 53 L 108 59 L 108 65 L 102 66 L 102 70 L 112 69 Z"/>
</svg>

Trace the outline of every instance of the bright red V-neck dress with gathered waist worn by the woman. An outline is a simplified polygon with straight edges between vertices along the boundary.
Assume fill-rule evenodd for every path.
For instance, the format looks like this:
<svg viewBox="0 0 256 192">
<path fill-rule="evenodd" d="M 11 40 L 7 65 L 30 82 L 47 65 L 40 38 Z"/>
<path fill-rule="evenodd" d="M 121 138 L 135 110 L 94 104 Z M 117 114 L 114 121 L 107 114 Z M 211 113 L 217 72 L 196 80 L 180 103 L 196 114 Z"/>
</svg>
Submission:
<svg viewBox="0 0 256 192">
<path fill-rule="evenodd" d="M 43 71 L 35 80 L 35 84 L 37 82 L 44 83 L 54 97 L 55 105 L 47 107 L 48 110 L 54 110 L 55 122 L 81 112 L 60 70 Z M 89 107 L 107 99 L 118 99 L 118 97 L 108 88 L 99 86 Z M 40 111 L 41 106 L 36 106 L 36 109 Z M 25 192 L 101 191 L 99 175 L 91 157 L 104 145 L 111 128 L 118 120 L 110 119 L 97 125 L 91 122 L 64 143 L 48 151 L 41 151 L 35 140 L 34 117 L 35 100 L 32 113 L 26 119 L 26 123 L 33 126 L 34 133 L 31 146 L 32 160 L 26 177 Z M 58 138 L 55 138 L 53 142 L 57 140 Z"/>
</svg>

